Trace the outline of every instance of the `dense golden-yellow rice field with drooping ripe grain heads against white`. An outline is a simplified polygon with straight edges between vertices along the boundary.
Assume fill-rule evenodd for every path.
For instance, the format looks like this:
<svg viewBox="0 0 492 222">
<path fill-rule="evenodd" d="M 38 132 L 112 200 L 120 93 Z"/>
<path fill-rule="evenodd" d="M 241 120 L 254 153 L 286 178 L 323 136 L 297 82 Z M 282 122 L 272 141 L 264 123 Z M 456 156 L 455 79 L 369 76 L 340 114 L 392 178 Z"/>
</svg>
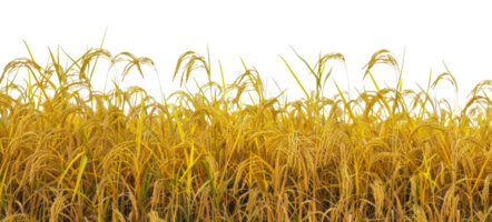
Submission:
<svg viewBox="0 0 492 222">
<path fill-rule="evenodd" d="M 492 220 L 492 80 L 462 97 L 441 59 L 404 88 L 403 43 L 371 53 L 353 84 L 343 52 L 319 47 L 311 62 L 287 42 L 273 56 L 303 93 L 291 100 L 240 53 L 227 81 L 205 41 L 204 53 L 177 54 L 167 92 L 155 59 L 105 48 L 109 29 L 78 57 L 46 44 L 45 64 L 20 38 L 27 57 L 2 65 L 1 221 Z M 391 83 L 373 72 L 383 64 Z M 157 97 L 125 84 L 134 69 L 155 74 Z"/>
</svg>

